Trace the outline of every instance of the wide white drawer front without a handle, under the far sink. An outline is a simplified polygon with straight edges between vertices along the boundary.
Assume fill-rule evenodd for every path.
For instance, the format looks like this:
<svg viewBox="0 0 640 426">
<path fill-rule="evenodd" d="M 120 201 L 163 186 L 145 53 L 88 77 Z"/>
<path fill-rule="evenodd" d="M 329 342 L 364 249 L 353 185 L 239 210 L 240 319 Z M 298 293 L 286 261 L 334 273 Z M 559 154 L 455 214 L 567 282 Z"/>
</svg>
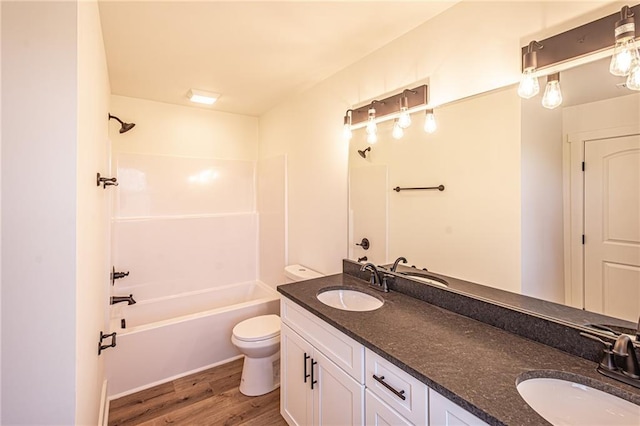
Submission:
<svg viewBox="0 0 640 426">
<path fill-rule="evenodd" d="M 358 383 L 364 384 L 364 346 L 286 297 L 280 299 L 280 317 Z"/>
</svg>

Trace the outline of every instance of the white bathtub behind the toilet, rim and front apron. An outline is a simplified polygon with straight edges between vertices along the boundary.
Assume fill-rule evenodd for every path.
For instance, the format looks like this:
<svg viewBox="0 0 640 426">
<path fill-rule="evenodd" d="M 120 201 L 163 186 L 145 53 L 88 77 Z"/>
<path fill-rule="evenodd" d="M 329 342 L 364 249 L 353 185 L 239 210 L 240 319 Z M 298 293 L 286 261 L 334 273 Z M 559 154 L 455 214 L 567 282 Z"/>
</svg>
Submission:
<svg viewBox="0 0 640 426">
<path fill-rule="evenodd" d="M 238 358 L 233 327 L 278 312 L 278 293 L 259 281 L 113 305 L 116 347 L 104 352 L 109 399 Z"/>
</svg>

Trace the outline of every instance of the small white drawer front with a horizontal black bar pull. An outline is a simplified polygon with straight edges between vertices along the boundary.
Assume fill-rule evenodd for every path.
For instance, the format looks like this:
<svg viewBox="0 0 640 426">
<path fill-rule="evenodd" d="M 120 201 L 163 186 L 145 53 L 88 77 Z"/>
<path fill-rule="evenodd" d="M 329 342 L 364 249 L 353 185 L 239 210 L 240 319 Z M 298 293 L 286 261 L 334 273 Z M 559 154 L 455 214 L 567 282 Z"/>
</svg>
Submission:
<svg viewBox="0 0 640 426">
<path fill-rule="evenodd" d="M 365 359 L 367 389 L 411 423 L 427 424 L 427 386 L 369 349 Z"/>
</svg>

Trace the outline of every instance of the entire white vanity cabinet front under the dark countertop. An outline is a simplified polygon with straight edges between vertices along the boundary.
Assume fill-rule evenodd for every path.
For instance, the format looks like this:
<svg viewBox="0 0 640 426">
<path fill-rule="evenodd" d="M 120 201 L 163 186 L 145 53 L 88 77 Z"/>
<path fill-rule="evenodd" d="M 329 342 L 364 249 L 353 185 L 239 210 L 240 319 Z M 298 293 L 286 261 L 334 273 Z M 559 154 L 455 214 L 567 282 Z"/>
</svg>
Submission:
<svg viewBox="0 0 640 426">
<path fill-rule="evenodd" d="M 486 425 L 286 298 L 280 316 L 280 413 L 289 425 Z"/>
</svg>

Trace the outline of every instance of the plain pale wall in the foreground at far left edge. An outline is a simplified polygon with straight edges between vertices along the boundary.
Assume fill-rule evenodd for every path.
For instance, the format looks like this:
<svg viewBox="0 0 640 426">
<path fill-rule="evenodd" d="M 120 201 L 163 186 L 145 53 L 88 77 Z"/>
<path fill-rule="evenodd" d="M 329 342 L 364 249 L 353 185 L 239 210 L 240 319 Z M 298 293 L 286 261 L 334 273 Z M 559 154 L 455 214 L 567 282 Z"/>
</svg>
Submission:
<svg viewBox="0 0 640 426">
<path fill-rule="evenodd" d="M 76 16 L 2 2 L 2 424 L 76 421 Z"/>
</svg>

